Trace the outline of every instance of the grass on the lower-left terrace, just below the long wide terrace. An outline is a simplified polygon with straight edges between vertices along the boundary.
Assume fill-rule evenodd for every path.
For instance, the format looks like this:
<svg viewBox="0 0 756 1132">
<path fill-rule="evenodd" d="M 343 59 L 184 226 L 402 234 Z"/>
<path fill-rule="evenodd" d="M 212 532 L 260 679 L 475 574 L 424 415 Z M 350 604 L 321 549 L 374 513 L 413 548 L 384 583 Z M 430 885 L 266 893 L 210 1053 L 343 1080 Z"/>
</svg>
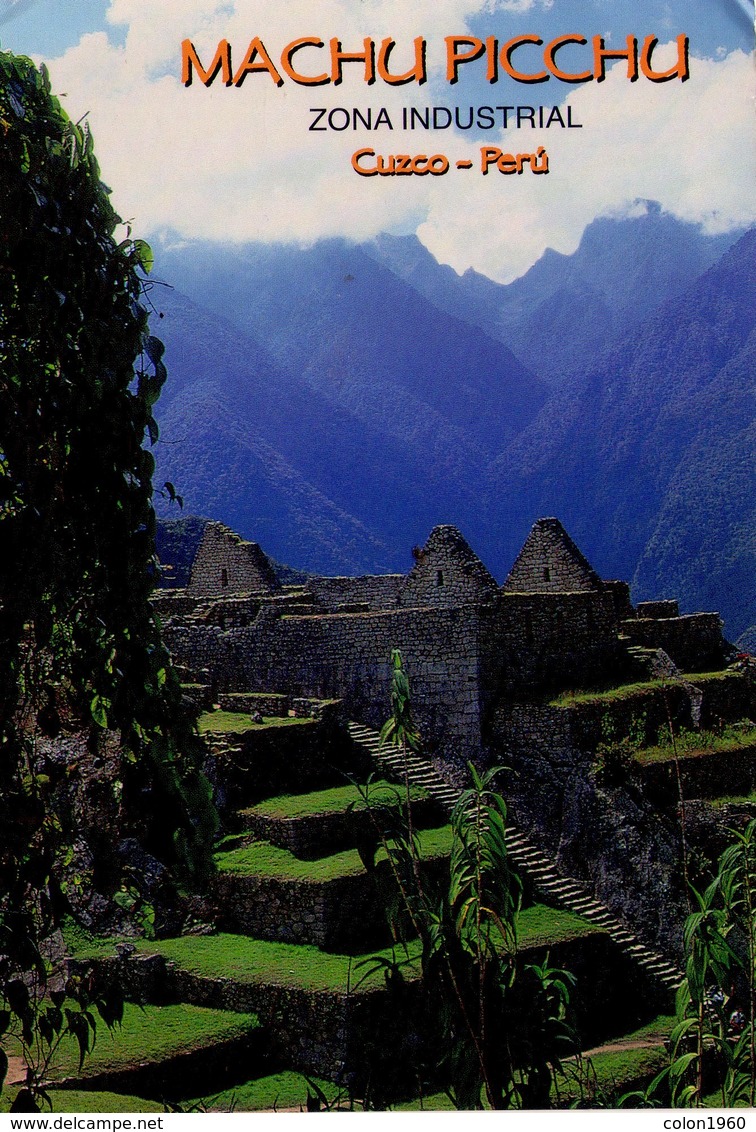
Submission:
<svg viewBox="0 0 756 1132">
<path fill-rule="evenodd" d="M 186 1003 L 144 1007 L 126 1003 L 120 1026 L 109 1030 L 104 1022 L 98 1022 L 94 1049 L 80 1071 L 78 1045 L 69 1038 L 61 1043 L 50 1077 L 51 1080 L 88 1078 L 140 1064 L 162 1064 L 180 1054 L 243 1037 L 258 1027 L 255 1014 Z M 8 1052 L 18 1052 L 12 1039 L 8 1043 Z"/>
</svg>

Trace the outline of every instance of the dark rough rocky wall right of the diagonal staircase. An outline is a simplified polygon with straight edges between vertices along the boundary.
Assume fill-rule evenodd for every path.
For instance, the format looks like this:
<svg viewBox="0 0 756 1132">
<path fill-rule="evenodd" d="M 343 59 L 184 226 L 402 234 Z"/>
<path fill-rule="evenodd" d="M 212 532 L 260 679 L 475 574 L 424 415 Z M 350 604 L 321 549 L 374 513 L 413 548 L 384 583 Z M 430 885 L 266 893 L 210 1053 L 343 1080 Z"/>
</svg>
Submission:
<svg viewBox="0 0 756 1132">
<path fill-rule="evenodd" d="M 504 792 L 515 822 L 641 940 L 676 953 L 687 914 L 679 827 L 646 796 L 639 769 L 613 773 L 596 758 L 598 723 L 594 710 L 502 705 L 490 757 L 512 767 Z"/>
</svg>

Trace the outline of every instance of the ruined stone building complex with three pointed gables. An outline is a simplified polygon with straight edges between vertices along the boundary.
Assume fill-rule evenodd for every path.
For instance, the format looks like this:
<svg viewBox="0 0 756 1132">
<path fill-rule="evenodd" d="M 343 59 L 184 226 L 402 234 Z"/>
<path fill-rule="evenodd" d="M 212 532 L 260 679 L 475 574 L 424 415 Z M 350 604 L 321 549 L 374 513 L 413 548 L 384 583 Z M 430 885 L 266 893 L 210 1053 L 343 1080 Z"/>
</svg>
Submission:
<svg viewBox="0 0 756 1132">
<path fill-rule="evenodd" d="M 256 543 L 212 523 L 189 586 L 157 607 L 177 660 L 216 689 L 338 696 L 372 724 L 402 649 L 426 741 L 457 767 L 487 746 L 501 696 L 642 678 L 659 649 L 698 671 L 727 652 L 714 614 L 634 610 L 627 585 L 603 582 L 556 518 L 534 524 L 502 586 L 453 526 L 431 532 L 406 575 L 281 586 Z"/>
</svg>

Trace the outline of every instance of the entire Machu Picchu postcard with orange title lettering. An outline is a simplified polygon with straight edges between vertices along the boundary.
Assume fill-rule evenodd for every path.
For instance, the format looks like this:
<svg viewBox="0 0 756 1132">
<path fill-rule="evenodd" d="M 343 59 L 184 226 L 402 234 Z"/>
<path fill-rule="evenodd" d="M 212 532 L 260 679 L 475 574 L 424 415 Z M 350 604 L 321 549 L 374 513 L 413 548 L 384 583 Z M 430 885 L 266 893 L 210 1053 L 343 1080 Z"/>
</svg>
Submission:
<svg viewBox="0 0 756 1132">
<path fill-rule="evenodd" d="M 54 980 L 24 1014 L 14 969 L 2 1104 L 753 1107 L 753 3 L 0 0 L 0 46 L 7 277 L 12 165 L 29 248 L 112 205 L 138 268 L 98 324 L 140 326 L 123 556 L 156 540 L 141 680 L 199 752 L 137 713 L 123 770 L 117 644 L 63 711 L 54 607 L 23 718 L 78 825 L 43 935 L 100 1014 Z M 80 231 L 63 151 L 105 187 Z M 89 342 L 46 372 L 96 381 Z"/>
</svg>

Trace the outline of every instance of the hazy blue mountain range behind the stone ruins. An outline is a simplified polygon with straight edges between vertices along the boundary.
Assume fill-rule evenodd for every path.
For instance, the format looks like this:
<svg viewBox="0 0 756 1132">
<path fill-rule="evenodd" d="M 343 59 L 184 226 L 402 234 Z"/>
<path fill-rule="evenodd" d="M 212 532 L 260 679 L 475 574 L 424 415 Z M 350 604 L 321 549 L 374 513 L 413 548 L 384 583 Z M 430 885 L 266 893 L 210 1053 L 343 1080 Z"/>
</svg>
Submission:
<svg viewBox="0 0 756 1132">
<path fill-rule="evenodd" d="M 276 559 L 406 569 L 455 523 L 504 576 L 556 514 L 634 598 L 756 623 L 756 232 L 642 203 L 508 285 L 414 237 L 165 241 L 158 477 Z"/>
</svg>

